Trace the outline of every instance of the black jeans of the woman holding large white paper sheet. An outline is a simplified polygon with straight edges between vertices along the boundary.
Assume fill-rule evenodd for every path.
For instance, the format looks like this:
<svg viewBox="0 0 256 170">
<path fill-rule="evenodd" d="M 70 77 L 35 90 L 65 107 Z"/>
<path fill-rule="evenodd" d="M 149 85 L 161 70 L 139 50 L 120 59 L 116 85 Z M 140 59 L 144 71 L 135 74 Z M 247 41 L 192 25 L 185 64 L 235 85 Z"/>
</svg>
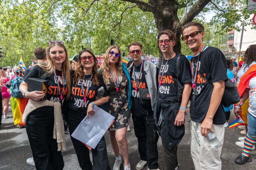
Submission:
<svg viewBox="0 0 256 170">
<path fill-rule="evenodd" d="M 69 112 L 68 125 L 71 141 L 74 145 L 76 156 L 82 170 L 91 170 L 92 163 L 89 156 L 89 149 L 79 140 L 73 138 L 71 134 L 75 131 L 76 127 L 84 119 L 86 114 Z M 92 149 L 93 170 L 110 170 L 108 163 L 107 147 L 104 136 L 99 141 L 95 149 Z"/>
</svg>

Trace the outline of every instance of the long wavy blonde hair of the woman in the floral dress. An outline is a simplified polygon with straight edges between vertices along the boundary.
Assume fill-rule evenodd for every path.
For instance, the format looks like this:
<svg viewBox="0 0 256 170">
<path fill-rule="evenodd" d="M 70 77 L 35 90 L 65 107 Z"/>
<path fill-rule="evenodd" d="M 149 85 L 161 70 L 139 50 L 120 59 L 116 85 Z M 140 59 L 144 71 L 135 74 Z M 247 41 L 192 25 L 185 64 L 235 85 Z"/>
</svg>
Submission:
<svg viewBox="0 0 256 170">
<path fill-rule="evenodd" d="M 110 66 L 109 66 L 109 51 L 111 51 L 111 49 L 113 48 L 116 48 L 119 52 L 119 54 L 121 55 L 121 51 L 120 49 L 116 46 L 116 45 L 111 45 L 105 52 L 105 56 L 103 58 L 103 62 L 100 66 L 100 74 L 102 74 L 103 76 L 103 80 L 104 80 L 104 83 L 105 84 L 109 84 L 109 69 L 110 69 Z M 116 62 L 116 68 L 117 68 L 117 71 L 118 71 L 118 75 L 121 76 L 121 73 L 122 73 L 122 57 L 118 57 L 118 61 Z"/>
</svg>

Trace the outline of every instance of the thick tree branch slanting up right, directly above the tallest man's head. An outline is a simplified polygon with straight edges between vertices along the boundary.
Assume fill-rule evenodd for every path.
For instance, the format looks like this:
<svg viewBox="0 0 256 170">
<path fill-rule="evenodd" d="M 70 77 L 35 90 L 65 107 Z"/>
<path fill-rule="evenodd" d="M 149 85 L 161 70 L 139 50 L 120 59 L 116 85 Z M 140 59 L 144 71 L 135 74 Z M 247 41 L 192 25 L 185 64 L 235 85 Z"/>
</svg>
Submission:
<svg viewBox="0 0 256 170">
<path fill-rule="evenodd" d="M 182 18 L 181 26 L 184 24 L 193 21 L 193 19 L 203 10 L 203 8 L 212 0 L 198 0 L 188 13 Z"/>
</svg>

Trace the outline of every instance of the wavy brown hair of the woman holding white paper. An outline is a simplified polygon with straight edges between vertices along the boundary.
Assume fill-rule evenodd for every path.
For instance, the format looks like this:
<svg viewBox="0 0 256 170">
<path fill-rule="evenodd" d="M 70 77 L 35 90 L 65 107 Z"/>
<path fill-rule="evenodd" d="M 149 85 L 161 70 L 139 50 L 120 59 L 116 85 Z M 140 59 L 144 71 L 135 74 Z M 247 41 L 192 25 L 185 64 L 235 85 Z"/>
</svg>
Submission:
<svg viewBox="0 0 256 170">
<path fill-rule="evenodd" d="M 94 65 L 92 67 L 92 75 L 93 75 L 93 77 L 92 77 L 92 84 L 94 84 L 96 86 L 99 86 L 100 83 L 99 83 L 99 80 L 98 80 L 98 69 L 97 69 L 98 60 L 95 57 L 95 55 L 92 53 L 92 51 L 90 51 L 87 48 L 85 48 L 85 49 L 83 49 L 82 51 L 79 52 L 78 64 L 77 64 L 76 69 L 75 69 L 75 76 L 73 78 L 73 82 L 76 82 L 76 84 L 77 84 L 77 81 L 80 78 L 85 78 L 84 67 L 81 64 L 81 55 L 84 52 L 89 52 L 93 56 Z"/>
</svg>

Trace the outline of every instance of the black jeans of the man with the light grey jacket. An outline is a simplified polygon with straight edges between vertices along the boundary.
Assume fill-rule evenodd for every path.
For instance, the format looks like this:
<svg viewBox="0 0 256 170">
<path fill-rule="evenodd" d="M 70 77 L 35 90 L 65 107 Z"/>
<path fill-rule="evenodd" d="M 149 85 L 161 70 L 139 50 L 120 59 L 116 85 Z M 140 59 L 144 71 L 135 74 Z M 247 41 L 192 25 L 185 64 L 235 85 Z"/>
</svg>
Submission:
<svg viewBox="0 0 256 170">
<path fill-rule="evenodd" d="M 138 138 L 140 159 L 147 161 L 149 169 L 158 168 L 157 141 L 158 133 L 153 118 L 153 111 L 149 115 L 132 115 L 135 136 Z"/>
</svg>

